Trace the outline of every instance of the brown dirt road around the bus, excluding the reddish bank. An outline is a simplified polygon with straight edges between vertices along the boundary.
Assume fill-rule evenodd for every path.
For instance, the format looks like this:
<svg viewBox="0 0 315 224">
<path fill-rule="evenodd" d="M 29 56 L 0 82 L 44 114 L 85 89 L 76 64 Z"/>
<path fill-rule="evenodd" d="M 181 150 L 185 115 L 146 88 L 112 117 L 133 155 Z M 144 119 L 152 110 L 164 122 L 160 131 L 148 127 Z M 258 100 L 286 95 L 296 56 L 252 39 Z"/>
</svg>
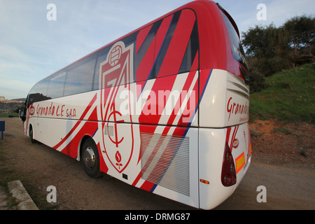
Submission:
<svg viewBox="0 0 315 224">
<path fill-rule="evenodd" d="M 6 175 L 25 181 L 39 209 L 45 209 L 48 203 L 43 197 L 48 194 L 48 186 L 56 187 L 57 209 L 194 209 L 109 176 L 91 179 L 80 162 L 43 144 L 31 144 L 22 134 L 19 118 L 1 120 L 6 122 L 6 132 L 0 139 L 5 160 L 0 172 L 12 169 Z M 265 186 L 267 202 L 256 200 L 258 186 Z M 37 199 L 38 195 L 43 196 Z M 314 169 L 258 162 L 253 148 L 251 167 L 239 188 L 216 209 L 315 209 L 314 201 Z"/>
</svg>

